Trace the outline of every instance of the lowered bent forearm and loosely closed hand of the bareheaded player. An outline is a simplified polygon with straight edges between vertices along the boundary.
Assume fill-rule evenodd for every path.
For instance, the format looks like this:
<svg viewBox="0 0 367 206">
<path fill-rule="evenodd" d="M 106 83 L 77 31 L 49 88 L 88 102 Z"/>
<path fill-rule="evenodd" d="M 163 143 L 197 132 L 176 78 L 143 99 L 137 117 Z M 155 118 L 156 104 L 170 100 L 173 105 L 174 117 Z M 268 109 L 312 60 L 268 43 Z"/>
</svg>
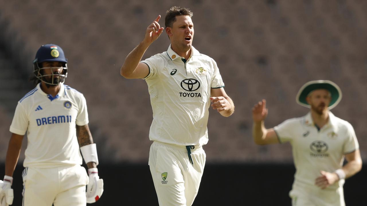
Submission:
<svg viewBox="0 0 367 206">
<path fill-rule="evenodd" d="M 211 107 L 217 110 L 222 116 L 229 117 L 235 111 L 235 104 L 226 94 L 224 88 L 212 88 L 210 90 Z"/>
</svg>

